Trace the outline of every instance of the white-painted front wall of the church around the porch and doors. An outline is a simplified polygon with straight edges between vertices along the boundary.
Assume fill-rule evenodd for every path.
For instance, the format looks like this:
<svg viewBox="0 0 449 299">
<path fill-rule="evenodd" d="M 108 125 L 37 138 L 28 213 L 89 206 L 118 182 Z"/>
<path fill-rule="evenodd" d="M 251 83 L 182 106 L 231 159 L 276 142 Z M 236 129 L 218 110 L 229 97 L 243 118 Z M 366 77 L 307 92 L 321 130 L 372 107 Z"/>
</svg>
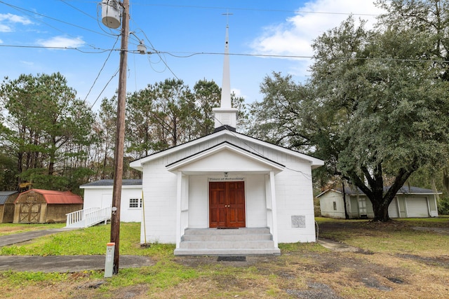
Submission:
<svg viewBox="0 0 449 299">
<path fill-rule="evenodd" d="M 295 170 L 285 169 L 275 176 L 279 242 L 314 242 L 316 238 L 310 163 L 280 151 L 230 136 L 210 139 L 143 165 L 142 186 L 145 197 L 147 236 L 145 238 L 142 223 L 140 241 L 176 242 L 177 176 L 168 172 L 166 165 L 199 153 L 225 140 Z M 227 169 L 223 169 L 223 171 L 225 172 Z M 189 178 L 189 227 L 191 228 L 208 227 L 208 177 L 211 175 L 204 174 Z M 239 176 L 243 176 L 246 181 L 247 226 L 267 226 L 264 175 L 242 173 Z M 304 219 L 304 223 L 297 227 L 297 221 L 293 223 L 292 216 L 295 219 Z"/>
</svg>

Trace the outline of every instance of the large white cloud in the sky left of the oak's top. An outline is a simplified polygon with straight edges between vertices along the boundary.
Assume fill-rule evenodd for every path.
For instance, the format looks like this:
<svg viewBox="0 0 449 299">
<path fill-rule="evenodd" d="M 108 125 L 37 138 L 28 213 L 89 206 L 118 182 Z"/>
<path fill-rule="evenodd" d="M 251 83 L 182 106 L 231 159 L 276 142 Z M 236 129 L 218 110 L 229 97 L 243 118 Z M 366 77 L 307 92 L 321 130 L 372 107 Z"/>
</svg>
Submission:
<svg viewBox="0 0 449 299">
<path fill-rule="evenodd" d="M 312 13 L 313 12 L 313 13 Z M 311 43 L 319 35 L 337 27 L 353 13 L 354 18 L 368 20 L 367 27 L 375 22 L 375 15 L 382 11 L 372 1 L 316 0 L 298 8 L 297 13 L 284 22 L 264 28 L 251 48 L 253 53 L 264 55 L 290 55 L 310 57 L 313 55 Z M 291 71 L 305 73 L 309 62 L 300 61 L 292 65 Z"/>
</svg>

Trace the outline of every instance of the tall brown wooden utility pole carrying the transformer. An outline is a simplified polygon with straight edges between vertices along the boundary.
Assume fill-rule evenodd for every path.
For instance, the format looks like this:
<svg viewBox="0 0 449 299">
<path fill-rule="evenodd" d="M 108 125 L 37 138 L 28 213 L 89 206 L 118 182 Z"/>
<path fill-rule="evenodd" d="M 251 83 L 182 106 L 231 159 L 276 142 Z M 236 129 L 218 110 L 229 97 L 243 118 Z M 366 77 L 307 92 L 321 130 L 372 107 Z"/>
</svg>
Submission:
<svg viewBox="0 0 449 299">
<path fill-rule="evenodd" d="M 128 60 L 129 0 L 123 0 L 121 13 L 121 50 L 119 95 L 117 103 L 116 144 L 114 153 L 114 188 L 112 190 L 111 242 L 115 243 L 114 274 L 119 273 L 120 201 L 125 143 L 126 61 Z"/>
</svg>

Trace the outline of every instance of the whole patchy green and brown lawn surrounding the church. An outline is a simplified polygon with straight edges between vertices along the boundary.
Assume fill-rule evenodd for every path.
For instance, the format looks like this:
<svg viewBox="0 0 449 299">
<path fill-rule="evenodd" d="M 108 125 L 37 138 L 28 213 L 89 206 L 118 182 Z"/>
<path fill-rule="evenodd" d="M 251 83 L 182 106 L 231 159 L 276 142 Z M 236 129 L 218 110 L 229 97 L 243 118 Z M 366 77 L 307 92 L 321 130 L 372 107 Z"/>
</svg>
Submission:
<svg viewBox="0 0 449 299">
<path fill-rule="evenodd" d="M 108 279 L 102 271 L 0 272 L 0 298 L 448 298 L 449 235 L 414 228 L 449 228 L 449 218 L 316 221 L 319 238 L 359 250 L 280 244 L 281 256 L 217 262 L 175 257 L 173 245 L 141 247 L 140 223 L 122 223 L 121 255 L 150 256 L 153 266 L 121 269 Z M 0 225 L 0 234 L 9 225 Z M 109 225 L 60 232 L 1 247 L 0 255 L 105 254 L 109 234 Z"/>
</svg>

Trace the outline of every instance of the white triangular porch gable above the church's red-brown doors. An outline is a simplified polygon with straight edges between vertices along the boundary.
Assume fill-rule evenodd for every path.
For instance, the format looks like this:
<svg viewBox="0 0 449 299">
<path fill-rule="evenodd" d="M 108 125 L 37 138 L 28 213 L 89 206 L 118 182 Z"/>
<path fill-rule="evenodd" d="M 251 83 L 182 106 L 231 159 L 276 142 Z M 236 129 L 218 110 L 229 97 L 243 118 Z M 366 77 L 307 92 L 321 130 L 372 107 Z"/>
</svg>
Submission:
<svg viewBox="0 0 449 299">
<path fill-rule="evenodd" d="M 230 162 L 232 161 L 232 162 Z M 262 155 L 223 141 L 189 157 L 177 160 L 166 166 L 170 172 L 185 174 L 203 172 L 281 172 L 285 166 Z"/>
</svg>

